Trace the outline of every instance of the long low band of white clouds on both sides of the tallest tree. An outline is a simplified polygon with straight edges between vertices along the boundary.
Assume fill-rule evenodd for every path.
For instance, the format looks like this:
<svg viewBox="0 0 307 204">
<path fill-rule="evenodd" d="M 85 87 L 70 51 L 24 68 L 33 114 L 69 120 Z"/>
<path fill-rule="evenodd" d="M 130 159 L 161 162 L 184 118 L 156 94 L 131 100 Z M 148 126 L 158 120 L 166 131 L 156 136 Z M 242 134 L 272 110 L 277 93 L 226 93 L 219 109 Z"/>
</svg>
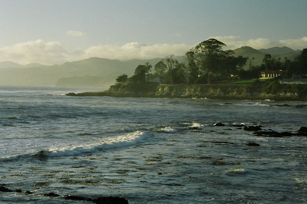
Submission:
<svg viewBox="0 0 307 204">
<path fill-rule="evenodd" d="M 274 46 L 287 46 L 294 50 L 307 48 L 307 37 L 299 39 L 285 39 L 272 41 L 266 38 L 249 39 L 242 41 L 239 36 L 213 37 L 227 45 L 226 49 L 237 49 L 250 46 L 255 49 L 270 48 Z M 109 59 L 150 59 L 165 57 L 170 54 L 183 55 L 194 45 L 186 44 L 153 44 L 146 45 L 139 42 L 130 42 L 124 45 L 98 45 L 85 50 L 66 50 L 60 42 L 46 42 L 38 39 L 17 43 L 0 48 L 0 62 L 13 61 L 19 64 L 41 63 L 45 65 L 62 64 L 89 57 L 102 57 Z"/>
</svg>

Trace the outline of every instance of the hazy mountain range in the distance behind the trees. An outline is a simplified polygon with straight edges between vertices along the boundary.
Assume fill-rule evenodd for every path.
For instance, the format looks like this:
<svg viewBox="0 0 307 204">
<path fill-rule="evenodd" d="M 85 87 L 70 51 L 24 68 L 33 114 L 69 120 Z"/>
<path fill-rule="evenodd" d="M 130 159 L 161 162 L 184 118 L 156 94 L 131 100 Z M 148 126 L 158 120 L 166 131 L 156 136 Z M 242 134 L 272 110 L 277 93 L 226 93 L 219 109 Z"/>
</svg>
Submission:
<svg viewBox="0 0 307 204">
<path fill-rule="evenodd" d="M 269 53 L 281 61 L 287 57 L 293 60 L 301 51 L 288 47 L 274 47 L 256 50 L 251 47 L 241 47 L 235 51 L 235 56 L 248 57 L 245 68 L 251 65 L 261 65 L 264 55 Z M 175 57 L 178 62 L 184 61 L 184 56 Z M 0 62 L 0 85 L 46 85 L 46 86 L 110 86 L 120 74 L 132 76 L 138 65 L 149 62 L 153 67 L 162 58 L 147 60 L 111 60 L 91 57 L 88 59 L 66 62 L 62 65 L 41 65 L 32 63 L 19 65 L 14 62 Z M 153 71 L 153 70 L 152 70 Z"/>
</svg>

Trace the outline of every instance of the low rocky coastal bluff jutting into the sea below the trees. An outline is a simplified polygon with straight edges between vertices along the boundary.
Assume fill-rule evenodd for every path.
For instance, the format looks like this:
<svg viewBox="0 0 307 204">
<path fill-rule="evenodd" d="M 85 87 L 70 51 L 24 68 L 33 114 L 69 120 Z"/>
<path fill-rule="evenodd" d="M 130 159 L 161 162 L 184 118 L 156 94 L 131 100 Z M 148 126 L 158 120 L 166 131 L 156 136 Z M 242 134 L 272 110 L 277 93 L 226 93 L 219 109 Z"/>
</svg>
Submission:
<svg viewBox="0 0 307 204">
<path fill-rule="evenodd" d="M 250 84 L 165 85 L 125 84 L 112 85 L 106 91 L 68 93 L 83 97 L 142 97 L 142 98 L 208 98 L 238 100 L 307 101 L 307 85 L 285 85 L 278 81 Z"/>
</svg>

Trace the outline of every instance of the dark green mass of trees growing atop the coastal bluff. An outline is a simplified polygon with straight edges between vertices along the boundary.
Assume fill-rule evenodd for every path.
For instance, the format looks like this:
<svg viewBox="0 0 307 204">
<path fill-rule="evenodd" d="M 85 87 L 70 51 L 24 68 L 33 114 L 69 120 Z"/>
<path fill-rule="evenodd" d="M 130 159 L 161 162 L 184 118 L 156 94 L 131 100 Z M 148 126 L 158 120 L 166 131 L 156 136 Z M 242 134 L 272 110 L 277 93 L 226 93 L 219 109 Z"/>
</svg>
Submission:
<svg viewBox="0 0 307 204">
<path fill-rule="evenodd" d="M 254 65 L 255 57 L 235 56 L 235 52 L 231 50 L 224 51 L 226 46 L 214 38 L 205 40 L 197 44 L 185 54 L 185 60 L 178 62 L 174 55 L 166 56 L 164 59 L 157 62 L 154 66 L 154 73 L 151 72 L 152 65 L 146 62 L 145 65 L 139 65 L 134 75 L 125 81 L 125 83 L 145 84 L 159 77 L 159 83 L 164 84 L 249 84 L 253 80 L 259 79 L 260 72 L 264 70 L 284 70 L 281 77 L 291 77 L 293 74 L 307 74 L 307 49 L 304 49 L 294 61 L 288 58 L 281 61 L 281 58 L 275 58 L 271 54 L 263 54 L 260 51 L 249 47 L 244 47 L 243 50 L 248 50 L 250 53 L 263 54 L 262 64 Z M 283 50 L 288 50 L 283 48 Z M 290 49 L 291 50 L 291 49 Z M 272 53 L 283 53 L 278 48 L 271 49 Z M 244 69 L 244 66 L 249 60 L 249 68 Z M 117 81 L 117 83 L 121 83 Z"/>
</svg>

